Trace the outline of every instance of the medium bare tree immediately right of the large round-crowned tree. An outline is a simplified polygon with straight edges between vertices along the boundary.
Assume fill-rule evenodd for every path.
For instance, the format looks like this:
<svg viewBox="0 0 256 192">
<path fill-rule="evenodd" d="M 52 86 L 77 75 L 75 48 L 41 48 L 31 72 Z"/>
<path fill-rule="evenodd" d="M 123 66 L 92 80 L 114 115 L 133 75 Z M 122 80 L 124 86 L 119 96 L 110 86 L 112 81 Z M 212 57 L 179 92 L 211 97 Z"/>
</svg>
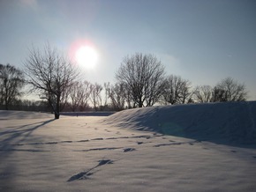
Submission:
<svg viewBox="0 0 256 192">
<path fill-rule="evenodd" d="M 179 76 L 169 75 L 164 81 L 162 98 L 171 105 L 192 101 L 191 82 Z"/>
</svg>

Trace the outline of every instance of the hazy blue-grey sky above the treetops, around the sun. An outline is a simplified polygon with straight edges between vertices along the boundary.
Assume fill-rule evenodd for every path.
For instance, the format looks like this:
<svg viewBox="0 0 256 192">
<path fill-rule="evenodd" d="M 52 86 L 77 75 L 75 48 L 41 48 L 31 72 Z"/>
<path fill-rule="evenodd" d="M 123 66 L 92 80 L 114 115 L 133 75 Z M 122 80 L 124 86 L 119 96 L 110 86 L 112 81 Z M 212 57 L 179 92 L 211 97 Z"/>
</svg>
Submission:
<svg viewBox="0 0 256 192">
<path fill-rule="evenodd" d="M 73 60 L 78 45 L 94 48 L 94 67 L 83 68 L 91 83 L 115 83 L 139 52 L 193 86 L 234 78 L 256 100 L 254 0 L 0 0 L 0 63 L 23 70 L 32 45 L 47 42 Z"/>
</svg>

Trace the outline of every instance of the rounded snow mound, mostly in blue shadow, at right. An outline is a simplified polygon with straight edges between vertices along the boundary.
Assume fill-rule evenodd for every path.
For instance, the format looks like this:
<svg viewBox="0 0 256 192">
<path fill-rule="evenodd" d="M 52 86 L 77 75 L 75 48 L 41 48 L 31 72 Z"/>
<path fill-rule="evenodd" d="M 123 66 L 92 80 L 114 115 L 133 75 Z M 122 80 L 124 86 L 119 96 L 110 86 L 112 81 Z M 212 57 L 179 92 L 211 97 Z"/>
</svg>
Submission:
<svg viewBox="0 0 256 192">
<path fill-rule="evenodd" d="M 215 143 L 256 144 L 256 101 L 135 108 L 104 122 Z"/>
</svg>

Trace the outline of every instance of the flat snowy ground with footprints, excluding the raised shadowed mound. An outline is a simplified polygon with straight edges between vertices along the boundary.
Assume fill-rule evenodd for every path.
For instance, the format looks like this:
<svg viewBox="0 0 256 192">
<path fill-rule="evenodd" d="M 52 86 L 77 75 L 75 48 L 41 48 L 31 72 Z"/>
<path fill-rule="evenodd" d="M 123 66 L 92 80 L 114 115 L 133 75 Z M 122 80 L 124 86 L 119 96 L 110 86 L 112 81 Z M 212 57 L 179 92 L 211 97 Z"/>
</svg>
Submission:
<svg viewBox="0 0 256 192">
<path fill-rule="evenodd" d="M 124 129 L 104 116 L 19 115 L 0 118 L 0 191 L 256 190 L 253 145 Z"/>
</svg>

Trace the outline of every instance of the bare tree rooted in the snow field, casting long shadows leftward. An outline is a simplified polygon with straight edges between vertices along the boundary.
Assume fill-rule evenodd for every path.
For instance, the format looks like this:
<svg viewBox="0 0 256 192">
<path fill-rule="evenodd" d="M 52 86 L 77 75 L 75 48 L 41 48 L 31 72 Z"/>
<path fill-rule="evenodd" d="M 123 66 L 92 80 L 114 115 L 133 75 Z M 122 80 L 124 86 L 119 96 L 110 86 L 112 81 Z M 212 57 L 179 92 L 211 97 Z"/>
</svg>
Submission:
<svg viewBox="0 0 256 192">
<path fill-rule="evenodd" d="M 68 98 L 70 87 L 79 72 L 74 64 L 47 44 L 44 51 L 32 48 L 25 63 L 27 83 L 49 101 L 59 119 L 59 113 Z"/>
</svg>

